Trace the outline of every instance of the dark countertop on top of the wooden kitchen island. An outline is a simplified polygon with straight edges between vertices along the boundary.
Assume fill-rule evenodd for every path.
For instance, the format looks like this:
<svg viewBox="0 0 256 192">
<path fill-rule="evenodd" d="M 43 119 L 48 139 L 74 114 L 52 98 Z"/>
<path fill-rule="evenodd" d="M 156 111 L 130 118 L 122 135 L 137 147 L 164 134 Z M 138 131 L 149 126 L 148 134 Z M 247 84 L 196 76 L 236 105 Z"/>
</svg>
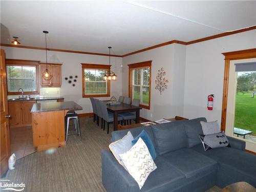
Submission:
<svg viewBox="0 0 256 192">
<path fill-rule="evenodd" d="M 31 109 L 31 113 L 49 112 L 49 111 L 63 111 L 63 110 L 82 110 L 82 107 L 74 101 L 65 102 L 45 102 L 35 103 Z"/>
</svg>

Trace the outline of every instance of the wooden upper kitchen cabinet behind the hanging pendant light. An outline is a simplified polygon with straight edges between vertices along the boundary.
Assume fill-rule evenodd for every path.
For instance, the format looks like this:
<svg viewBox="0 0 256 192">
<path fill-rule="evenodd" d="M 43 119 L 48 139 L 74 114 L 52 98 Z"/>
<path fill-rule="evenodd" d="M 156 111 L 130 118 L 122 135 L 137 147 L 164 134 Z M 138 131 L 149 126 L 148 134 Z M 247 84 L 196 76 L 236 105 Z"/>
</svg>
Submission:
<svg viewBox="0 0 256 192">
<path fill-rule="evenodd" d="M 40 78 L 42 88 L 58 88 L 61 87 L 61 64 L 47 63 L 47 69 L 52 74 L 50 80 L 42 78 L 42 73 L 46 70 L 46 63 L 40 63 Z"/>
</svg>

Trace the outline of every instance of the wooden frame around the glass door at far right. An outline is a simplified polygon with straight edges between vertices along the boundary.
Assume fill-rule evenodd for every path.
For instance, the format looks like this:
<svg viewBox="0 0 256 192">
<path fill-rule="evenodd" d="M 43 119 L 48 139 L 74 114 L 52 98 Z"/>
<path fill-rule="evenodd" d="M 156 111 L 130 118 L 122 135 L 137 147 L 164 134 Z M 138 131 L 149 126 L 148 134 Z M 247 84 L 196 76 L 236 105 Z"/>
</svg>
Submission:
<svg viewBox="0 0 256 192">
<path fill-rule="evenodd" d="M 256 58 L 256 49 L 246 49 L 241 51 L 232 51 L 222 53 L 225 58 L 223 96 L 222 96 L 222 114 L 221 114 L 221 131 L 226 130 L 226 115 L 227 115 L 227 94 L 228 94 L 228 78 L 230 60 Z"/>
</svg>

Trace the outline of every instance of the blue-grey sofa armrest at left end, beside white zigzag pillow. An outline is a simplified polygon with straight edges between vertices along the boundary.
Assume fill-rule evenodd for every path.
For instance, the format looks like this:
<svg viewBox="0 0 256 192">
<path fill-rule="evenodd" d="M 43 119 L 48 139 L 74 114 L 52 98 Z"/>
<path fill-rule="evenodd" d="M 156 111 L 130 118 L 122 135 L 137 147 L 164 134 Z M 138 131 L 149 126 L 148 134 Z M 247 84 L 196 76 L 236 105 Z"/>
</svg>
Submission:
<svg viewBox="0 0 256 192">
<path fill-rule="evenodd" d="M 107 192 L 139 192 L 139 185 L 110 151 L 101 152 L 102 184 Z"/>
</svg>

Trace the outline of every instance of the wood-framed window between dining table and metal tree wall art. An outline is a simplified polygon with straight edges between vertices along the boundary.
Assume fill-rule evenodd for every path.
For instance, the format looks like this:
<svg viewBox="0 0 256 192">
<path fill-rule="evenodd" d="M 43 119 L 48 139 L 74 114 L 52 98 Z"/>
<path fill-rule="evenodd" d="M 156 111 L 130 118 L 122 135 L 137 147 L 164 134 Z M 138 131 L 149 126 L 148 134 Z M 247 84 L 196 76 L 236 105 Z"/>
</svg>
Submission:
<svg viewBox="0 0 256 192">
<path fill-rule="evenodd" d="M 145 61 L 129 66 L 129 97 L 140 99 L 140 106 L 150 109 L 151 63 Z"/>
</svg>

